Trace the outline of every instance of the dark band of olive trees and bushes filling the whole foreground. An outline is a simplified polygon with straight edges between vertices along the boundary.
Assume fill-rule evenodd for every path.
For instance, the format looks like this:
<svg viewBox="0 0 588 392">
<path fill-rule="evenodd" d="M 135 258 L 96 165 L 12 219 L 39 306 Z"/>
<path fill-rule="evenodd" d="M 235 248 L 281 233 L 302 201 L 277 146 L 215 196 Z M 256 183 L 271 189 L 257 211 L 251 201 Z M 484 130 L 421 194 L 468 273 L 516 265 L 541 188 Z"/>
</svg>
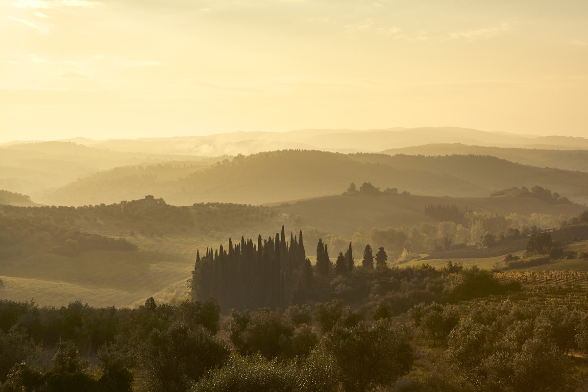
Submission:
<svg viewBox="0 0 588 392">
<path fill-rule="evenodd" d="M 0 301 L 0 391 L 563 392 L 586 382 L 568 355 L 588 349 L 586 304 L 574 302 L 586 290 L 553 287 L 544 294 L 558 300 L 545 305 L 532 288 L 489 290 L 500 285 L 491 273 L 459 264 L 420 273 L 451 277 L 461 296 L 420 301 L 403 317 L 394 290 L 360 307 L 332 300 L 225 317 L 213 299 L 150 298 L 132 310 Z"/>
</svg>

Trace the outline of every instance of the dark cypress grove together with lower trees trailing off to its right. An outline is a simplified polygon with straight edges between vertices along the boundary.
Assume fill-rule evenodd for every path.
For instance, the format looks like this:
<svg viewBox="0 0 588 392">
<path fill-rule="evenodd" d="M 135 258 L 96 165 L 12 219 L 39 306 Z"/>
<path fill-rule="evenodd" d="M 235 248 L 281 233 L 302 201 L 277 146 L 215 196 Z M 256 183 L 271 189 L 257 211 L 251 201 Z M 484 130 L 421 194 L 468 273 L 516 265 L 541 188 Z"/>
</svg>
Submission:
<svg viewBox="0 0 588 392">
<path fill-rule="evenodd" d="M 308 301 L 343 300 L 359 304 L 373 296 L 395 293 L 390 294 L 394 311 L 402 313 L 423 300 L 452 301 L 469 299 L 475 294 L 518 290 L 512 282 L 494 282 L 486 272 L 477 271 L 471 279 L 481 279 L 477 282 L 479 287 L 468 286 L 470 289 L 464 291 L 447 272 L 428 264 L 402 269 L 391 267 L 386 250 L 380 247 L 374 254 L 370 244 L 364 247 L 357 265 L 351 243 L 345 253 L 339 252 L 333 263 L 328 246 L 319 239 L 316 263 L 312 265 L 306 257 L 302 231 L 298 236 L 290 233 L 289 242 L 285 238 L 282 226 L 282 232 L 275 237 L 262 240 L 259 235 L 257 243 L 242 237 L 235 244 L 229 239 L 227 249 L 222 245 L 214 250 L 208 248 L 203 256 L 198 250 L 189 280 L 192 300 L 214 297 L 226 313 L 230 309 L 302 306 Z M 417 289 L 418 293 L 407 297 L 409 289 L 402 289 L 403 282 L 410 282 L 411 289 Z"/>
</svg>

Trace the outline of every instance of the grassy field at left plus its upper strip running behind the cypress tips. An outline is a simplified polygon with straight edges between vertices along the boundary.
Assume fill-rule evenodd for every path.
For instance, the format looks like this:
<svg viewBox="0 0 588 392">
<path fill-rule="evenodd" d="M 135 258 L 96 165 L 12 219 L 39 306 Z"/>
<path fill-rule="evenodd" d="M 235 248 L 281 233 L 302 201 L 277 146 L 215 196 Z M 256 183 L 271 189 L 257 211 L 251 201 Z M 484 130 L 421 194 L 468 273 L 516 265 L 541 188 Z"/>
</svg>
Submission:
<svg viewBox="0 0 588 392">
<path fill-rule="evenodd" d="M 206 247 L 226 247 L 229 237 L 242 234 L 256 240 L 275 235 L 282 219 L 276 216 L 259 222 L 236 222 L 230 232 L 188 230 L 164 236 L 130 235 L 128 227 L 116 222 L 76 220 L 84 232 L 123 237 L 136 244 L 135 252 L 89 250 L 77 256 L 50 253 L 52 245 L 34 240 L 2 249 L 0 279 L 5 289 L 0 299 L 34 300 L 41 305 L 64 306 L 81 300 L 96 307 L 138 306 L 153 296 L 160 302 L 177 303 L 188 296 L 187 280 L 196 259 Z"/>
</svg>

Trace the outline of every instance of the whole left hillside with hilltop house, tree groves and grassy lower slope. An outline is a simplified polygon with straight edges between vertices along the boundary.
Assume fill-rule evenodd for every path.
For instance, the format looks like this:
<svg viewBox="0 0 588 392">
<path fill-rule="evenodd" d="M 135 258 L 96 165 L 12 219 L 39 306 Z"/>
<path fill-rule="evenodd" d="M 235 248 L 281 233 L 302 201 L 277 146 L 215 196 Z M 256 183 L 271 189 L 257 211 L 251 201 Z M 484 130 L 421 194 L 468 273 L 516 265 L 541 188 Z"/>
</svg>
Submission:
<svg viewBox="0 0 588 392">
<path fill-rule="evenodd" d="M 272 209 L 245 205 L 0 208 L 0 299 L 51 306 L 182 300 L 197 249 L 293 229 Z"/>
</svg>

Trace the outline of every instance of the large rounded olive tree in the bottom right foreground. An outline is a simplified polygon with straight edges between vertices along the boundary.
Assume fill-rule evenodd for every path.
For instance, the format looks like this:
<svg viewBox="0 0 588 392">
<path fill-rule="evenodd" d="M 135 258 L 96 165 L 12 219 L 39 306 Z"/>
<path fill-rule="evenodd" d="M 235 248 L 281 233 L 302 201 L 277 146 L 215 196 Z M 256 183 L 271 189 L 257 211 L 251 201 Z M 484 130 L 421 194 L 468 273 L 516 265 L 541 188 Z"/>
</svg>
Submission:
<svg viewBox="0 0 588 392">
<path fill-rule="evenodd" d="M 472 311 L 449 335 L 450 363 L 480 391 L 574 390 L 564 350 L 533 329 L 535 319 L 532 309 L 502 304 Z"/>
</svg>

